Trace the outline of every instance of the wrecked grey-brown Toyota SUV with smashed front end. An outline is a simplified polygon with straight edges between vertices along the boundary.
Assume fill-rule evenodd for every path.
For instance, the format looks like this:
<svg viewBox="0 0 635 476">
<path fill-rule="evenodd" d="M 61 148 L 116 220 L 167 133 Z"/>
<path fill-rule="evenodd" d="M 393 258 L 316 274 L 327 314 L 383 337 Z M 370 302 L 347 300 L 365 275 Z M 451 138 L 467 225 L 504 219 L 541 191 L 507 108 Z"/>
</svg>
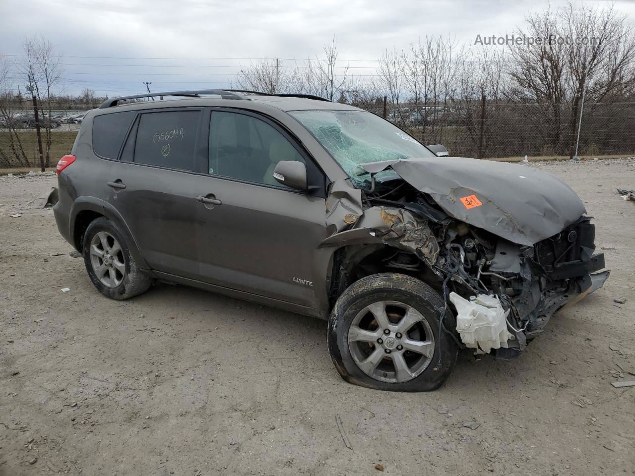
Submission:
<svg viewBox="0 0 635 476">
<path fill-rule="evenodd" d="M 515 357 L 608 277 L 547 173 L 314 96 L 148 96 L 86 114 L 58 164 L 58 228 L 110 298 L 162 281 L 328 319 L 345 380 L 420 391 L 460 348 Z"/>
</svg>

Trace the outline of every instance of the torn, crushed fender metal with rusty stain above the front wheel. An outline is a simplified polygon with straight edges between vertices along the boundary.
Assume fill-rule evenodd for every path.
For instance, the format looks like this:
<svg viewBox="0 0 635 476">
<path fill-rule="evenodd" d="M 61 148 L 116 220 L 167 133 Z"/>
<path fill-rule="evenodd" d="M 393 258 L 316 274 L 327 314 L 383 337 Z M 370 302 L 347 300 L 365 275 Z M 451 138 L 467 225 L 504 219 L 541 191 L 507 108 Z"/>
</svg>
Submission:
<svg viewBox="0 0 635 476">
<path fill-rule="evenodd" d="M 403 208 L 373 207 L 364 211 L 359 226 L 376 230 L 385 244 L 414 253 L 429 266 L 436 263 L 439 244 L 426 220 Z"/>
</svg>

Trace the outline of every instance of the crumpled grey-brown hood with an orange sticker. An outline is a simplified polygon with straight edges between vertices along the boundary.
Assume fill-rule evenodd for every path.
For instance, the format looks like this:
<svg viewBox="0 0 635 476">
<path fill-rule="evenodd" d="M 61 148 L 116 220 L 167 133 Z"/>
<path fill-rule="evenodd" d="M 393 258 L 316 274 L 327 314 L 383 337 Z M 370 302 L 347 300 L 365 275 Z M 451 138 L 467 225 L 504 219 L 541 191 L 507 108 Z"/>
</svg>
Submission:
<svg viewBox="0 0 635 476">
<path fill-rule="evenodd" d="M 392 168 L 453 218 L 522 245 L 555 235 L 586 213 L 565 182 L 528 166 L 429 157 L 361 167 L 370 173 Z"/>
</svg>

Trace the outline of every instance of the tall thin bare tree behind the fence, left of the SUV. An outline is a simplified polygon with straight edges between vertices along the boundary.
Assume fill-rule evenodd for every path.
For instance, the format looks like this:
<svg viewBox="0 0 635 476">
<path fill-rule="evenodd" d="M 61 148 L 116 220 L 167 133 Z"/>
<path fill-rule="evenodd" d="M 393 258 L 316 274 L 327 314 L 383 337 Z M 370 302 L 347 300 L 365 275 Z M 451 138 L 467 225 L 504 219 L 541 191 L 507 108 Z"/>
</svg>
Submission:
<svg viewBox="0 0 635 476">
<path fill-rule="evenodd" d="M 55 51 L 51 41 L 43 36 L 27 37 L 23 43 L 24 60 L 19 64 L 24 80 L 34 89 L 39 109 L 51 117 L 51 98 L 53 88 L 62 76 L 62 56 Z M 43 121 L 45 131 L 44 166 L 50 166 L 51 121 Z"/>
</svg>

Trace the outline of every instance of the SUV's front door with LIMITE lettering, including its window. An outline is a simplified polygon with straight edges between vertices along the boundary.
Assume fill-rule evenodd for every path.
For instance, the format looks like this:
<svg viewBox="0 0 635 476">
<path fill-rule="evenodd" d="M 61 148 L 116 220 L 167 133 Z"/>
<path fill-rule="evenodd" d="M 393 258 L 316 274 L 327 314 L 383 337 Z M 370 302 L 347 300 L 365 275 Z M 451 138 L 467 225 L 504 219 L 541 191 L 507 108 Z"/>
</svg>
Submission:
<svg viewBox="0 0 635 476">
<path fill-rule="evenodd" d="M 206 119 L 207 121 L 207 119 Z M 200 279 L 316 307 L 315 251 L 326 237 L 324 175 L 276 123 L 238 110 L 213 110 L 206 176 L 197 176 Z M 272 176 L 277 162 L 305 163 L 311 194 Z"/>
</svg>

